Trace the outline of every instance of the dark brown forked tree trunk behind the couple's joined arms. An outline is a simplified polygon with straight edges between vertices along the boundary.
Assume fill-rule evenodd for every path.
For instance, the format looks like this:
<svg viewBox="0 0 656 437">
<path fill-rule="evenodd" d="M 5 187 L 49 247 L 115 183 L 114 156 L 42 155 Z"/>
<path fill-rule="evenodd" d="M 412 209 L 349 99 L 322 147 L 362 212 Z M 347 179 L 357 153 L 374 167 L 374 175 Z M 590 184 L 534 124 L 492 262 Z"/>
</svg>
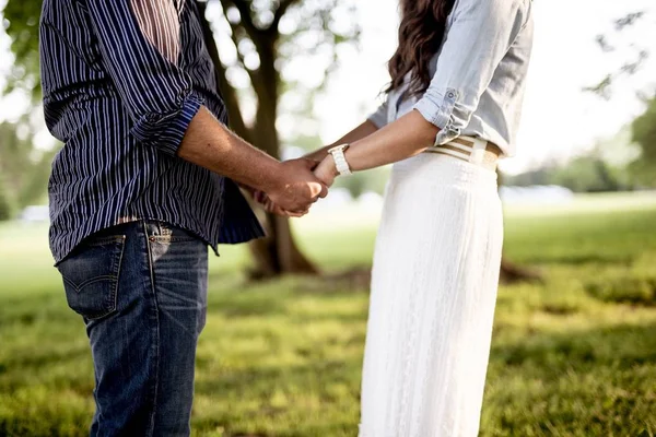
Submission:
<svg viewBox="0 0 656 437">
<path fill-rule="evenodd" d="M 231 128 L 242 138 L 257 145 L 271 156 L 280 157 L 280 143 L 278 131 L 276 130 L 276 119 L 278 113 L 278 72 L 276 72 L 272 50 L 267 54 L 260 54 L 260 64 L 262 68 L 269 68 L 266 78 L 267 95 L 258 94 L 258 109 L 255 127 L 249 129 L 242 117 L 239 103 L 235 90 L 225 78 L 225 69 L 219 58 L 219 51 L 214 42 L 214 35 L 210 23 L 206 19 L 207 3 L 198 2 L 201 14 L 201 24 L 208 51 L 214 62 L 216 83 L 225 103 L 231 119 Z M 272 45 L 271 45 L 272 47 Z M 258 209 L 249 199 L 251 206 Z M 281 275 L 283 273 L 295 274 L 318 274 L 319 270 L 298 249 L 294 241 L 289 218 L 280 217 L 273 214 L 262 214 L 263 225 L 267 231 L 267 237 L 249 244 L 250 253 L 255 261 L 255 268 L 250 272 L 253 279 L 268 279 Z"/>
</svg>

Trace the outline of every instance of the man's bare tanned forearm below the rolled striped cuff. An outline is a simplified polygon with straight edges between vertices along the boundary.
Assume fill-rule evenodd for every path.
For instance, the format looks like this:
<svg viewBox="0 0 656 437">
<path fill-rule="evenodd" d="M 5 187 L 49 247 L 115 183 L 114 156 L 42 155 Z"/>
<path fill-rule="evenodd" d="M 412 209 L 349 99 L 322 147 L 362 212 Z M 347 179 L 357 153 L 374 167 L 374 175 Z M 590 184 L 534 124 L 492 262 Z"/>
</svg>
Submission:
<svg viewBox="0 0 656 437">
<path fill-rule="evenodd" d="M 280 180 L 280 162 L 231 132 L 206 107 L 191 119 L 177 154 L 258 190 L 268 191 Z"/>
</svg>

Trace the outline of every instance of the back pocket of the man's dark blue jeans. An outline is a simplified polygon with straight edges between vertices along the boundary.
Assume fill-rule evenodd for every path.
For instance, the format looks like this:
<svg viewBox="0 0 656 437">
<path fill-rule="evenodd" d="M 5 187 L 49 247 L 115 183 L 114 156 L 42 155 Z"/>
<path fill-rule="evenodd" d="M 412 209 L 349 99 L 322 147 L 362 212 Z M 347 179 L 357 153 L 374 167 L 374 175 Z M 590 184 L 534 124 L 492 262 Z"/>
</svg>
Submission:
<svg viewBox="0 0 656 437">
<path fill-rule="evenodd" d="M 125 235 L 92 238 L 57 265 L 69 307 L 85 319 L 116 311 L 125 240 Z"/>
</svg>

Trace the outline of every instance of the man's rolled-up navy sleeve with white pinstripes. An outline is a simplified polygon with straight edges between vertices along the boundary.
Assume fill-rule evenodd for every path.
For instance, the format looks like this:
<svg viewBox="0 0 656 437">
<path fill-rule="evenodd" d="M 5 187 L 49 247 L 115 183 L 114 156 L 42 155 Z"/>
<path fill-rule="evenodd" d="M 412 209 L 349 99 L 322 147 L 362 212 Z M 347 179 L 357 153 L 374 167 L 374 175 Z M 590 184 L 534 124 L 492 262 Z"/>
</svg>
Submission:
<svg viewBox="0 0 656 437">
<path fill-rule="evenodd" d="M 175 155 L 203 104 L 178 67 L 180 24 L 171 0 L 86 0 L 102 62 L 143 144 Z"/>
</svg>

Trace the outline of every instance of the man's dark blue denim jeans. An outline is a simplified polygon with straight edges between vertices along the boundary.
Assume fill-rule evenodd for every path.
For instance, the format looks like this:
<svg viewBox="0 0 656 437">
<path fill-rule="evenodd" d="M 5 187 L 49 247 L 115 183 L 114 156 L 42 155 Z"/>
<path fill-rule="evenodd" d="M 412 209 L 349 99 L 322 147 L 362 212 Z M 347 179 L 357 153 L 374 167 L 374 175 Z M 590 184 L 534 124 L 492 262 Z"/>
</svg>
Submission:
<svg viewBox="0 0 656 437">
<path fill-rule="evenodd" d="M 133 222 L 93 235 L 57 268 L 91 343 L 91 435 L 188 436 L 207 245 L 164 223 Z"/>
</svg>

